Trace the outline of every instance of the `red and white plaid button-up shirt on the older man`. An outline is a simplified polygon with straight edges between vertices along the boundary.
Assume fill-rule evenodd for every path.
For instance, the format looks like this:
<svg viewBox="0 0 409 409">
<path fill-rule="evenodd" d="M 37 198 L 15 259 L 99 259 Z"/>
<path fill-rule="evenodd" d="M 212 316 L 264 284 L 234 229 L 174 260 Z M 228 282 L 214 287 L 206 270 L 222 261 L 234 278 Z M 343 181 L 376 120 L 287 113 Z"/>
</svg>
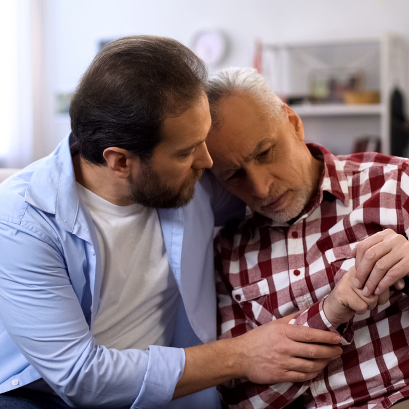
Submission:
<svg viewBox="0 0 409 409">
<path fill-rule="evenodd" d="M 324 298 L 354 265 L 352 249 L 391 228 L 409 235 L 409 160 L 375 153 L 324 158 L 316 202 L 291 225 L 248 212 L 215 240 L 221 338 L 302 311 L 294 324 L 336 332 Z M 230 408 L 283 408 L 302 395 L 306 408 L 389 408 L 409 398 L 408 296 L 354 316 L 342 331 L 343 354 L 311 381 L 220 386 Z"/>
</svg>

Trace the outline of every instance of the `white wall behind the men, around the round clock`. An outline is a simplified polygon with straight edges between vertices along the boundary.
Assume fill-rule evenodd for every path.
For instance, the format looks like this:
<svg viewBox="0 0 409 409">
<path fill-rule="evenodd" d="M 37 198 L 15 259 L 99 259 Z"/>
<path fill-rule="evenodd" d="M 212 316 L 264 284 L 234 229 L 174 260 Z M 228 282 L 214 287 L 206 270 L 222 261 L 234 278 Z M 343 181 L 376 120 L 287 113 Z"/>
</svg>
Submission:
<svg viewBox="0 0 409 409">
<path fill-rule="evenodd" d="M 72 91 L 100 40 L 157 34 L 191 45 L 195 32 L 217 27 L 231 41 L 223 65 L 249 66 L 255 39 L 282 42 L 403 34 L 409 41 L 407 0 L 42 0 L 45 39 L 44 121 L 36 152 L 51 151 L 69 131 L 54 115 L 55 93 Z"/>
</svg>

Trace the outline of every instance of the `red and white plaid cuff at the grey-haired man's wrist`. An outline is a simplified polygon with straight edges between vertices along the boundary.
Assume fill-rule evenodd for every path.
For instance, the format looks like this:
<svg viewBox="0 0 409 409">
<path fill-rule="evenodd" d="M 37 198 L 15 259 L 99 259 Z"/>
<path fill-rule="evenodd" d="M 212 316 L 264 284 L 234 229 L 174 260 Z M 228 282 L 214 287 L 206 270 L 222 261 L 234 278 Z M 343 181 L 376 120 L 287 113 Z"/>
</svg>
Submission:
<svg viewBox="0 0 409 409">
<path fill-rule="evenodd" d="M 323 306 L 326 298 L 327 296 L 321 301 L 312 305 L 307 310 L 297 314 L 290 321 L 290 324 L 304 325 L 306 327 L 335 332 L 341 335 L 341 345 L 349 345 L 354 338 L 354 333 L 350 329 L 350 322 L 347 322 L 345 326 L 338 327 L 339 329 L 342 328 L 340 331 L 338 331 L 338 329 L 329 322 L 324 313 Z"/>
</svg>

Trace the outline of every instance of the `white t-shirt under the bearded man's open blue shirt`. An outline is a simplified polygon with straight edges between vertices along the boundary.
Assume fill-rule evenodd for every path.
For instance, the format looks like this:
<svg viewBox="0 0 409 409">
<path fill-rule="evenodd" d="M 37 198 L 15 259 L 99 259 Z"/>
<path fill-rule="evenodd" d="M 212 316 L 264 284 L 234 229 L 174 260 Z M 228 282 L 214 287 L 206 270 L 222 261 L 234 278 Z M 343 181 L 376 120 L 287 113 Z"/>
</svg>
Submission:
<svg viewBox="0 0 409 409">
<path fill-rule="evenodd" d="M 156 209 L 117 206 L 77 183 L 101 249 L 100 305 L 91 331 L 108 348 L 169 345 L 180 293 Z"/>
</svg>

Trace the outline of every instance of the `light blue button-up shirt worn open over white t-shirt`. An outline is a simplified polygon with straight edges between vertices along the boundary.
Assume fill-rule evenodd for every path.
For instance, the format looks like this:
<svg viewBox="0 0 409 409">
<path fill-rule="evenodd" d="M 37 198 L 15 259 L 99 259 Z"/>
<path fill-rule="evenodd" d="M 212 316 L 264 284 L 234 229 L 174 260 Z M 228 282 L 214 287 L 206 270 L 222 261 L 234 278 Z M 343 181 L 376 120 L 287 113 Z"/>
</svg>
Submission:
<svg viewBox="0 0 409 409">
<path fill-rule="evenodd" d="M 69 138 L 3 182 L 0 393 L 42 377 L 71 406 L 217 408 L 214 388 L 170 401 L 184 369 L 183 347 L 215 339 L 214 212 L 223 215 L 232 206 L 230 216 L 241 204 L 207 174 L 190 204 L 158 209 L 181 294 L 173 340 L 147 351 L 119 351 L 96 345 L 90 332 L 101 262 L 94 226 L 76 190 Z"/>
</svg>

